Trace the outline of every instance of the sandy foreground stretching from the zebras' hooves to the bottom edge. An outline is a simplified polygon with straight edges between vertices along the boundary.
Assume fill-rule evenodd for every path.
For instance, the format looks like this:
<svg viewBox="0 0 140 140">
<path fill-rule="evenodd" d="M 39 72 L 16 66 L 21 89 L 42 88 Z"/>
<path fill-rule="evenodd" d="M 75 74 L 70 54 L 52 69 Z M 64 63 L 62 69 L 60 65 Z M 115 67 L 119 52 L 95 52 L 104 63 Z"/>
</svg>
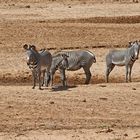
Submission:
<svg viewBox="0 0 140 140">
<path fill-rule="evenodd" d="M 1 138 L 139 139 L 139 87 L 139 82 L 43 91 L 0 86 Z"/>
</svg>

